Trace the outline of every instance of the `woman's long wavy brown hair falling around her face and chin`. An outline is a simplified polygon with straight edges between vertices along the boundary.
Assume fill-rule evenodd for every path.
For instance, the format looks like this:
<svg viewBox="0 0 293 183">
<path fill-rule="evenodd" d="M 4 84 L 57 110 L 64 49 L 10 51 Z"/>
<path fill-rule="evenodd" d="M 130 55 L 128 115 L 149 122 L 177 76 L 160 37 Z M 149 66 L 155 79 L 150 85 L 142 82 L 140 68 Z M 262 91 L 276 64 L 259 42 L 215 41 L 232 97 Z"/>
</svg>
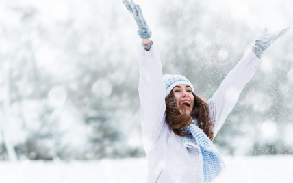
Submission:
<svg viewBox="0 0 293 183">
<path fill-rule="evenodd" d="M 209 107 L 207 106 L 207 102 L 199 98 L 199 96 L 196 96 L 193 92 L 192 95 L 194 96 L 194 106 L 190 115 L 186 115 L 185 110 L 181 110 L 183 113 L 180 113 L 179 110 L 182 109 L 183 106 L 176 106 L 173 91 L 166 96 L 166 122 L 169 124 L 175 135 L 184 137 L 186 136 L 186 133 L 183 132 L 184 128 L 190 126 L 192 119 L 196 119 L 199 123 L 199 128 L 203 129 L 205 135 L 213 141 L 214 123 L 212 122 L 212 118 L 209 117 Z"/>
</svg>

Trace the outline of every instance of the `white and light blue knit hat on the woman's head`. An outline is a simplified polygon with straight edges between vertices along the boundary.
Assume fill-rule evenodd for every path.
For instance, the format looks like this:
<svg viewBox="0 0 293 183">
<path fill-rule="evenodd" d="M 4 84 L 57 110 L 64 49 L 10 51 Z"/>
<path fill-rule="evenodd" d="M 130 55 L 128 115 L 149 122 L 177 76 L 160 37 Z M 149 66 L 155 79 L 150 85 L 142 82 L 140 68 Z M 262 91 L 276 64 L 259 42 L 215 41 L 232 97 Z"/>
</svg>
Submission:
<svg viewBox="0 0 293 183">
<path fill-rule="evenodd" d="M 163 76 L 164 83 L 165 83 L 165 89 L 166 89 L 166 96 L 170 94 L 172 89 L 177 86 L 177 85 L 182 85 L 186 84 L 191 87 L 192 92 L 194 92 L 193 85 L 190 83 L 190 81 L 182 76 L 182 75 L 170 75 L 170 74 L 165 74 Z"/>
</svg>

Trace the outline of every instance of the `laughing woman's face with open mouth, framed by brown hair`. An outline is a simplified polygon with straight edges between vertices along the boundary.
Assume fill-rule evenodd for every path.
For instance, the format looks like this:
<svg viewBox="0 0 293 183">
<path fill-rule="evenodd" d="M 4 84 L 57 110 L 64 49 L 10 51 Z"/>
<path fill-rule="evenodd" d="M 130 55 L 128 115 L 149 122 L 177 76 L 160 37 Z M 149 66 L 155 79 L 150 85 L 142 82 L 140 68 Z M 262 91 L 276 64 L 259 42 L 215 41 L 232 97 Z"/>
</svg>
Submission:
<svg viewBox="0 0 293 183">
<path fill-rule="evenodd" d="M 194 105 L 194 96 L 192 95 L 191 87 L 185 84 L 177 85 L 173 88 L 173 94 L 175 96 L 176 106 L 184 104 L 186 107 L 183 109 L 187 115 L 190 115 Z"/>
</svg>

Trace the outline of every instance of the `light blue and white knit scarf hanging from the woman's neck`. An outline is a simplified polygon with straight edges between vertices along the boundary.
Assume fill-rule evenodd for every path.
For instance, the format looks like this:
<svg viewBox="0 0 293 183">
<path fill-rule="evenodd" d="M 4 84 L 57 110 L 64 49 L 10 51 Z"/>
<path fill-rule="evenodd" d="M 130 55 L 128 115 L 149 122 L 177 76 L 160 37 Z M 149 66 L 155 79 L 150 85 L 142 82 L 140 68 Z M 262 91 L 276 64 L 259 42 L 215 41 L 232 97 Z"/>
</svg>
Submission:
<svg viewBox="0 0 293 183">
<path fill-rule="evenodd" d="M 196 119 L 192 120 L 192 124 L 183 130 L 188 135 L 181 137 L 181 139 L 184 146 L 188 148 L 199 147 L 201 149 L 203 156 L 203 177 L 205 183 L 207 183 L 220 175 L 225 167 L 225 163 L 216 146 L 196 124 Z"/>
</svg>

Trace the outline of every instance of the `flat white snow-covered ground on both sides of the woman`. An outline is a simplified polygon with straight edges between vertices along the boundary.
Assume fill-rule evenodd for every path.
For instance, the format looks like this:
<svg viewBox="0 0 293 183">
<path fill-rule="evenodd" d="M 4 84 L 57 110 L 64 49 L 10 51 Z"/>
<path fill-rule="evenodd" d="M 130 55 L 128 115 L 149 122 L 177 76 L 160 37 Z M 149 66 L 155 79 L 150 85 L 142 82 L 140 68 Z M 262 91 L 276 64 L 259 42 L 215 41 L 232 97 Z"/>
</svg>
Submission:
<svg viewBox="0 0 293 183">
<path fill-rule="evenodd" d="M 225 172 L 215 182 L 293 182 L 293 156 L 226 157 Z M 1 183 L 144 182 L 146 158 L 99 161 L 21 161 L 0 163 Z"/>
</svg>

